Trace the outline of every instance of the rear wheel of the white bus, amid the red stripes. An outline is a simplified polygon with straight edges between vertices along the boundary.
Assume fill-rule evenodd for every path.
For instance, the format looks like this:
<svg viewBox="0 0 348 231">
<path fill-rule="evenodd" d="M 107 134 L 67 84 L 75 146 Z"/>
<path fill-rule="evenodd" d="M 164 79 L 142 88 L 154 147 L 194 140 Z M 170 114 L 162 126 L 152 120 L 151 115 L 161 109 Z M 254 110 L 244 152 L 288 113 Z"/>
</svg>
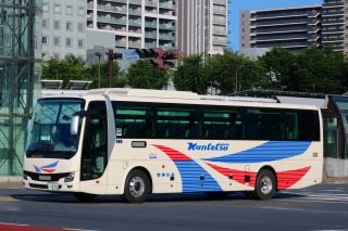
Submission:
<svg viewBox="0 0 348 231">
<path fill-rule="evenodd" d="M 262 201 L 270 200 L 274 195 L 275 188 L 274 174 L 268 169 L 262 169 L 259 171 L 257 177 L 253 196 Z"/>
</svg>

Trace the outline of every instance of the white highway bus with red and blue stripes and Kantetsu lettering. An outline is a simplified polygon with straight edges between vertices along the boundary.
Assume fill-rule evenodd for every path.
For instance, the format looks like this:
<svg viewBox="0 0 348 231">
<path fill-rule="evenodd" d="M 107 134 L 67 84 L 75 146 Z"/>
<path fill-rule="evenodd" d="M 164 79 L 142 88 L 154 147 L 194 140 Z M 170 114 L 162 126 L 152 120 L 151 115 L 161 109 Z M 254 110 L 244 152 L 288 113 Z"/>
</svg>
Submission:
<svg viewBox="0 0 348 231">
<path fill-rule="evenodd" d="M 322 182 L 321 111 L 192 92 L 97 89 L 45 97 L 28 124 L 23 183 L 82 201 L 149 193 L 269 200 Z"/>
</svg>

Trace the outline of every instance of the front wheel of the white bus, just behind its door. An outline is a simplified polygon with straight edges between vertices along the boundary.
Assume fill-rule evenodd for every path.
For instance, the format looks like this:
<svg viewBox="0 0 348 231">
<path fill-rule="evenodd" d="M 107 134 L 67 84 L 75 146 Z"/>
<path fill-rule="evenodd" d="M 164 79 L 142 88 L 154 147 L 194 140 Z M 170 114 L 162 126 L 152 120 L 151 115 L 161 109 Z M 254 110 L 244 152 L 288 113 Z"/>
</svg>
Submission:
<svg viewBox="0 0 348 231">
<path fill-rule="evenodd" d="M 142 203 L 150 192 L 150 180 L 140 169 L 132 170 L 126 179 L 123 198 L 128 203 Z"/>
</svg>

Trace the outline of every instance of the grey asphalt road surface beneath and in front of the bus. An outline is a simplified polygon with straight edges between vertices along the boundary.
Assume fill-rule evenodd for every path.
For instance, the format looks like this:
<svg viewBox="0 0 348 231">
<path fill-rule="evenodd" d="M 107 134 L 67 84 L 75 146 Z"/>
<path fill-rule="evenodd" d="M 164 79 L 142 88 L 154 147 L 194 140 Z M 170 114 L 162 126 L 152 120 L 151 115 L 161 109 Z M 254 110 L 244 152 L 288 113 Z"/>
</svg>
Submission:
<svg viewBox="0 0 348 231">
<path fill-rule="evenodd" d="M 18 226 L 20 224 L 20 226 Z M 271 201 L 240 193 L 211 201 L 203 195 L 157 195 L 144 204 L 116 196 L 94 203 L 70 194 L 0 189 L 0 230 L 345 230 L 348 184 L 284 191 Z"/>
</svg>

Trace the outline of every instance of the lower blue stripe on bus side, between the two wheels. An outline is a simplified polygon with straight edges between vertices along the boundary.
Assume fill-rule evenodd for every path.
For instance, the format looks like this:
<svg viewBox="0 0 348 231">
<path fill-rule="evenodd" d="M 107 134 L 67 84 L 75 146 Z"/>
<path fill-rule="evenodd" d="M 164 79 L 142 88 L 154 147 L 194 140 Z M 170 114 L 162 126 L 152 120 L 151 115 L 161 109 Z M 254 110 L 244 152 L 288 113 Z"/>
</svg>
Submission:
<svg viewBox="0 0 348 231">
<path fill-rule="evenodd" d="M 175 161 L 174 163 L 182 176 L 184 193 L 222 191 L 216 180 L 196 162 Z"/>
</svg>

